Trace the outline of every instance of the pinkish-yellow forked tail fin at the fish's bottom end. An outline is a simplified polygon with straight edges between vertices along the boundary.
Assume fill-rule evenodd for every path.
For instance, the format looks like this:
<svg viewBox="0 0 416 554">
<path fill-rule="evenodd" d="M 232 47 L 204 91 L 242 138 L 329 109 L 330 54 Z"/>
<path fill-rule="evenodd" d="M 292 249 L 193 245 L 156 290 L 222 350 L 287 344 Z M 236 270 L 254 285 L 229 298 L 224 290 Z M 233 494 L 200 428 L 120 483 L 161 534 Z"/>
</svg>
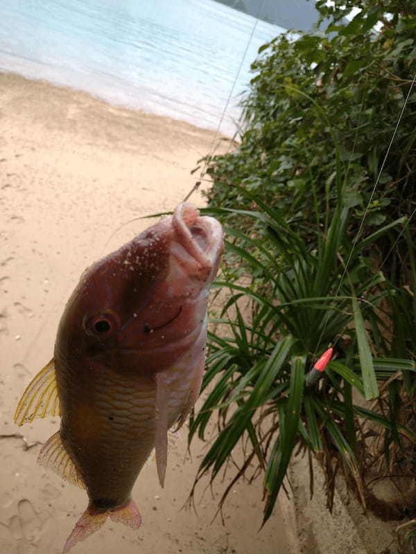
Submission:
<svg viewBox="0 0 416 554">
<path fill-rule="evenodd" d="M 121 508 L 108 510 L 107 512 L 98 512 L 98 510 L 89 506 L 76 522 L 71 535 L 67 538 L 62 554 L 69 552 L 77 542 L 83 541 L 89 535 L 95 533 L 105 523 L 108 516 L 113 521 L 122 523 L 132 529 L 138 529 L 141 526 L 141 515 L 134 500 L 130 500 L 128 504 L 121 506 Z"/>
</svg>

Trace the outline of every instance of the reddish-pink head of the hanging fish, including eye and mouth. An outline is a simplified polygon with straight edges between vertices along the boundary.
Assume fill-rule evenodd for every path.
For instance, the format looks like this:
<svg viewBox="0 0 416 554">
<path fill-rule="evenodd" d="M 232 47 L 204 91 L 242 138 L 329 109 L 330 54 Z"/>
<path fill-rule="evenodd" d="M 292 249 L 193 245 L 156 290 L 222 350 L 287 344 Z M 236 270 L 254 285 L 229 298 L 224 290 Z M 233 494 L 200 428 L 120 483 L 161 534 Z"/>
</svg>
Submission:
<svg viewBox="0 0 416 554">
<path fill-rule="evenodd" d="M 55 359 L 72 368 L 163 370 L 206 329 L 223 230 L 182 203 L 87 269 L 64 310 Z"/>
</svg>

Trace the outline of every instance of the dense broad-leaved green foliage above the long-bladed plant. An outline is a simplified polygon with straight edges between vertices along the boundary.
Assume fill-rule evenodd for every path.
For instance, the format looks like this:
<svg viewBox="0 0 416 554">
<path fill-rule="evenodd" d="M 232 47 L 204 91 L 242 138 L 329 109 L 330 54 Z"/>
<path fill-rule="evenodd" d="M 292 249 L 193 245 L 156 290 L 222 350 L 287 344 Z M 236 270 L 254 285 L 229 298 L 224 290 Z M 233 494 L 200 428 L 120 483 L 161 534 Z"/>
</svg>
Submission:
<svg viewBox="0 0 416 554">
<path fill-rule="evenodd" d="M 361 12 L 348 22 L 353 4 Z M 212 206 L 248 208 L 238 187 L 255 191 L 310 240 L 327 226 L 340 189 L 354 209 L 352 234 L 361 222 L 370 234 L 416 208 L 416 88 L 406 102 L 416 67 L 416 4 L 329 7 L 321 0 L 317 7 L 331 21 L 325 33 L 286 33 L 261 46 L 243 100 L 241 145 L 210 161 L 208 193 Z M 388 256 L 388 274 L 406 280 L 406 244 L 395 240 L 391 233 L 375 248 Z"/>
</svg>

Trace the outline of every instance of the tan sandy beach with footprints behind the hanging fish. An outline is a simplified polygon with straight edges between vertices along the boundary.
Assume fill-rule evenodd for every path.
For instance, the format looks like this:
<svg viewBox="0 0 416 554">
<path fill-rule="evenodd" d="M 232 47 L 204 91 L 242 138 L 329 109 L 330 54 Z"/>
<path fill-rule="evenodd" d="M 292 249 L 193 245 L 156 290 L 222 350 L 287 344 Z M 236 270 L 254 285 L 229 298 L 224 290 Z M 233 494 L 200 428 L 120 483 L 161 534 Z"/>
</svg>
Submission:
<svg viewBox="0 0 416 554">
<path fill-rule="evenodd" d="M 11 74 L 0 75 L 0 126 L 0 554 L 58 554 L 87 497 L 35 463 L 58 418 L 18 428 L 17 400 L 51 359 L 83 269 L 142 231 L 148 222 L 140 217 L 184 199 L 214 133 Z M 203 205 L 200 193 L 191 201 Z M 73 554 L 379 554 L 388 546 L 389 531 L 368 546 L 370 520 L 354 520 L 338 497 L 336 517 L 322 517 L 323 491 L 318 481 L 309 501 L 306 461 L 292 467 L 294 499 L 281 494 L 260 533 L 261 480 L 234 487 L 224 525 L 214 516 L 227 479 L 212 491 L 200 485 L 197 512 L 184 509 L 206 449 L 195 441 L 190 458 L 186 436 L 184 429 L 169 455 L 163 490 L 154 463 L 137 480 L 141 529 L 107 521 Z"/>
</svg>

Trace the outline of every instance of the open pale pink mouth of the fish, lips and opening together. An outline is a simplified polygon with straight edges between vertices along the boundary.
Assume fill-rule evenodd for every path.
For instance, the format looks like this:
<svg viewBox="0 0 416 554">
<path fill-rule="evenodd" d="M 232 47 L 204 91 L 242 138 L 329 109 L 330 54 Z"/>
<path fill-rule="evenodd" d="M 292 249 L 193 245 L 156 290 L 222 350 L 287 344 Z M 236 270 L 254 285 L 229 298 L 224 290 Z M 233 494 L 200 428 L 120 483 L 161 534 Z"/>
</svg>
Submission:
<svg viewBox="0 0 416 554">
<path fill-rule="evenodd" d="M 182 202 L 173 213 L 172 225 L 176 240 L 171 253 L 180 265 L 190 273 L 197 268 L 214 273 L 223 250 L 221 224 L 214 217 L 201 216 L 193 204 Z"/>
</svg>

